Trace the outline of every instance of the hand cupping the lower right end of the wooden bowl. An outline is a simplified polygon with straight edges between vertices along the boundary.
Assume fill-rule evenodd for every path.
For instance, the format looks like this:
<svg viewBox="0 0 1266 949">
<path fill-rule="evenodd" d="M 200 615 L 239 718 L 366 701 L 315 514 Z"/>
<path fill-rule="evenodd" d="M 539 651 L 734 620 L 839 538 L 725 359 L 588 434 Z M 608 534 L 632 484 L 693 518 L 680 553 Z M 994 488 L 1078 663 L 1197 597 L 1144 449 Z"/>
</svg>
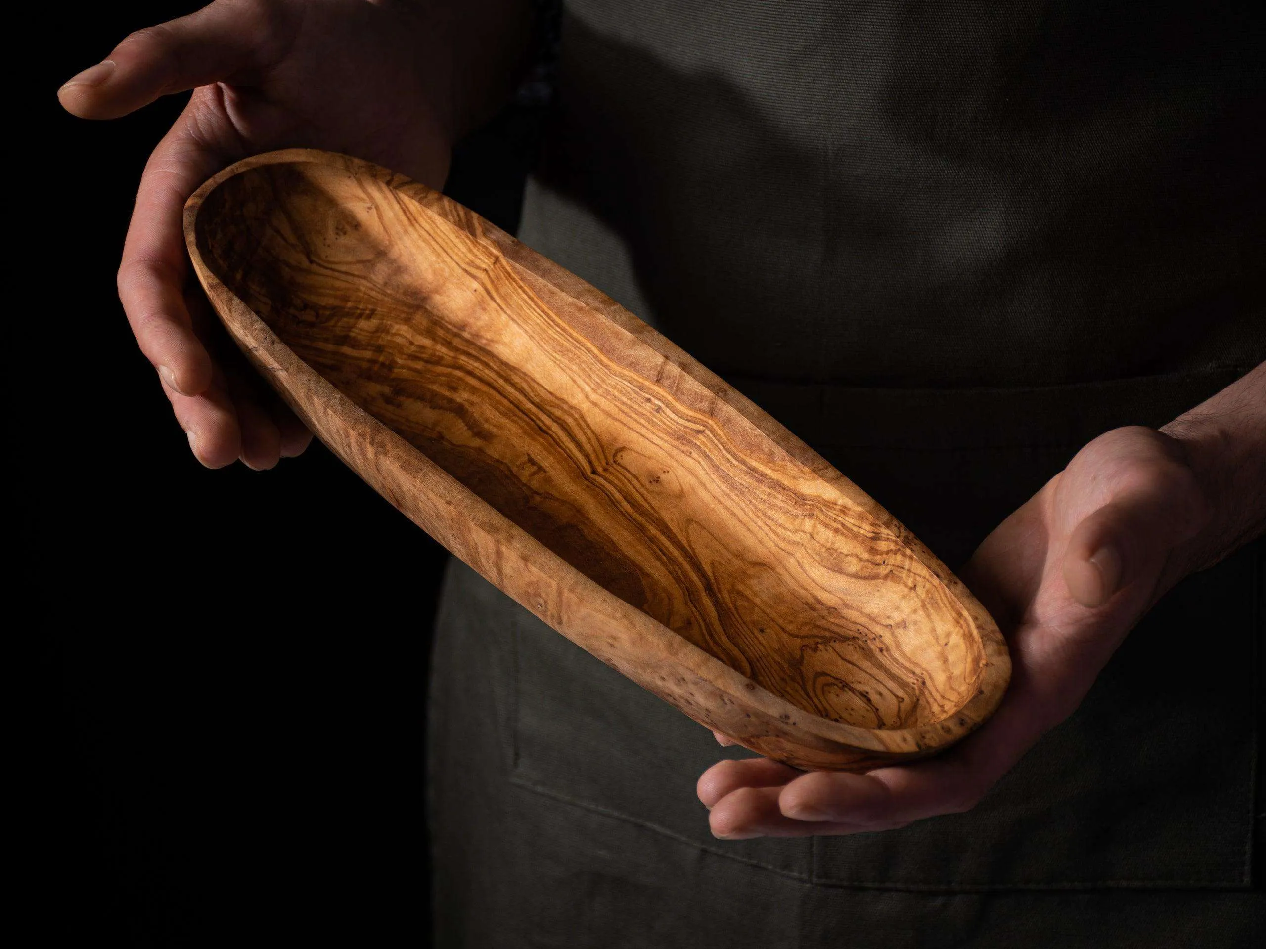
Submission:
<svg viewBox="0 0 1266 949">
<path fill-rule="evenodd" d="M 961 573 L 1008 636 L 1012 682 L 998 711 L 944 754 L 865 774 L 720 762 L 698 786 L 713 833 L 852 834 L 971 809 L 1080 705 L 1148 607 L 1205 566 L 1205 495 L 1174 438 L 1146 428 L 1096 438 Z"/>
</svg>

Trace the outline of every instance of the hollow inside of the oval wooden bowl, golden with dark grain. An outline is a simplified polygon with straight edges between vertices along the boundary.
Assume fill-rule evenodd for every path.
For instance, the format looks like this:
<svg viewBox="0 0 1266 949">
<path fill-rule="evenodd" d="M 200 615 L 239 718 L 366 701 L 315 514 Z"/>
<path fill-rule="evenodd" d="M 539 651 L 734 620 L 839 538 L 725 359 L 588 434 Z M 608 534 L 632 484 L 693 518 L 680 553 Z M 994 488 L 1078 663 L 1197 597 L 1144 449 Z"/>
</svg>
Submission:
<svg viewBox="0 0 1266 949">
<path fill-rule="evenodd" d="M 208 195 L 196 237 L 348 399 L 775 695 L 891 729 L 976 693 L 970 615 L 891 530 L 785 453 L 752 450 L 755 429 L 689 407 L 695 380 L 670 391 L 600 352 L 446 216 L 343 167 L 276 163 Z"/>
</svg>

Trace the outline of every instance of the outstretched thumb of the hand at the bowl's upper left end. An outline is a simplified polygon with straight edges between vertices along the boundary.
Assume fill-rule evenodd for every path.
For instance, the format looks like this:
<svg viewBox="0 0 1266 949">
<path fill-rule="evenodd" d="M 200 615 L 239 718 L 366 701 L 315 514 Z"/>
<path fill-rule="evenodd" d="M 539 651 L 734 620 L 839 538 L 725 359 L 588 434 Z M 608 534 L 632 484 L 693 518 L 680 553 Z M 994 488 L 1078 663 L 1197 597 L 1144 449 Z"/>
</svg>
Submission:
<svg viewBox="0 0 1266 949">
<path fill-rule="evenodd" d="M 230 80 L 277 62 L 298 32 L 282 4 L 216 0 L 130 34 L 103 62 L 57 90 L 81 119 L 116 119 L 160 96 Z"/>
</svg>

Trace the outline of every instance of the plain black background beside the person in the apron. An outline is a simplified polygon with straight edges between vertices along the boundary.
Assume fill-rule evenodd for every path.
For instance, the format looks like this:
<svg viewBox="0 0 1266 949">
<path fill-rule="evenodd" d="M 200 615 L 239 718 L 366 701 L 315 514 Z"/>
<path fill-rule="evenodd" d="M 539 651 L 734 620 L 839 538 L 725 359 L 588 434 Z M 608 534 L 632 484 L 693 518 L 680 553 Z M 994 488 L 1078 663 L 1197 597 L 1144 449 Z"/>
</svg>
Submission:
<svg viewBox="0 0 1266 949">
<path fill-rule="evenodd" d="M 420 945 L 447 554 L 319 444 L 268 472 L 197 464 L 114 287 L 144 161 L 187 95 L 111 123 L 54 95 L 130 30 L 197 6 L 58 6 L 22 125 L 39 224 L 10 280 L 47 276 L 10 319 L 14 596 L 38 643 L 46 933 Z M 534 123 L 509 108 L 448 185 L 510 230 Z"/>
</svg>

